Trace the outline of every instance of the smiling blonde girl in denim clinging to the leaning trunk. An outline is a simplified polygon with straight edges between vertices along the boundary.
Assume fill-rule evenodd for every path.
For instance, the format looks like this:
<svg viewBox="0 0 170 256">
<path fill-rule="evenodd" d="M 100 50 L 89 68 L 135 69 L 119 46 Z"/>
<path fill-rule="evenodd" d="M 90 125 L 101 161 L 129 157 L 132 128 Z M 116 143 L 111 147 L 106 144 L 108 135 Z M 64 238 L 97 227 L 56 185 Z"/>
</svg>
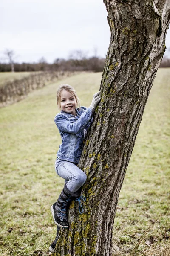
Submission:
<svg viewBox="0 0 170 256">
<path fill-rule="evenodd" d="M 94 94 L 89 108 L 77 108 L 79 98 L 73 87 L 62 84 L 57 90 L 57 105 L 61 112 L 55 116 L 54 122 L 59 129 L 62 144 L 57 151 L 55 170 L 60 177 L 65 179 L 65 186 L 57 202 L 51 206 L 54 223 L 57 225 L 57 236 L 60 227 L 68 228 L 67 209 L 71 201 L 79 197 L 86 181 L 85 173 L 79 169 L 77 164 L 82 154 L 83 140 L 100 101 L 99 93 Z M 55 248 L 55 243 L 49 248 L 52 252 L 53 247 Z"/>
</svg>

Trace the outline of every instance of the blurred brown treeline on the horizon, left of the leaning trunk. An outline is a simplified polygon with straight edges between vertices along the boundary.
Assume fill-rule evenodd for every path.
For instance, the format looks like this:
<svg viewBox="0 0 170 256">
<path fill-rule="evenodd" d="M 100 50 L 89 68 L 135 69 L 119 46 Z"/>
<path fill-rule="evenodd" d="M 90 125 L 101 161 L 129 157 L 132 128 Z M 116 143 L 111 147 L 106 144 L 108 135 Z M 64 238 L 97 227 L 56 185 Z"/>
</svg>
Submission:
<svg viewBox="0 0 170 256">
<path fill-rule="evenodd" d="M 38 63 L 14 63 L 15 72 L 23 71 L 93 71 L 102 72 L 105 65 L 105 58 L 91 57 L 82 59 L 57 58 L 53 64 L 46 61 Z M 11 71 L 11 64 L 0 63 L 0 72 Z"/>
</svg>

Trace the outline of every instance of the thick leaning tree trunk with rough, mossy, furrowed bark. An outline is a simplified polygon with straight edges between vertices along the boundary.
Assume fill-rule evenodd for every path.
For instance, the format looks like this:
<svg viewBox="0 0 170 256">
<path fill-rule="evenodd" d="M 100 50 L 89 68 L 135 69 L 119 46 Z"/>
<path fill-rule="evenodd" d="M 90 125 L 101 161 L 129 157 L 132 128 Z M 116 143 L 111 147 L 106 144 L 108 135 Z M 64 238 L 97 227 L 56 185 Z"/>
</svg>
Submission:
<svg viewBox="0 0 170 256">
<path fill-rule="evenodd" d="M 119 192 L 144 107 L 165 51 L 169 0 L 104 0 L 111 42 L 101 81 L 102 99 L 79 167 L 88 179 L 85 212 L 71 204 L 69 230 L 60 232 L 56 256 L 111 256 Z M 135 172 L 135 170 L 134 170 Z"/>
</svg>

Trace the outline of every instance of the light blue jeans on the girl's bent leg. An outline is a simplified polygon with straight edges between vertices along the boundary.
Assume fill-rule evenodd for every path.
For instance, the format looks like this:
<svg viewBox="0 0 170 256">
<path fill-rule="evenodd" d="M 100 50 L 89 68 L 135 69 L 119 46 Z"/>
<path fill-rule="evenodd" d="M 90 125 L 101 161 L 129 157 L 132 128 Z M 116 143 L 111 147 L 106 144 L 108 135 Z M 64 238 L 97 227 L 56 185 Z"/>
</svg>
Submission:
<svg viewBox="0 0 170 256">
<path fill-rule="evenodd" d="M 65 184 L 71 192 L 76 192 L 86 181 L 86 174 L 76 164 L 56 159 L 55 170 L 59 177 L 65 179 Z"/>
</svg>

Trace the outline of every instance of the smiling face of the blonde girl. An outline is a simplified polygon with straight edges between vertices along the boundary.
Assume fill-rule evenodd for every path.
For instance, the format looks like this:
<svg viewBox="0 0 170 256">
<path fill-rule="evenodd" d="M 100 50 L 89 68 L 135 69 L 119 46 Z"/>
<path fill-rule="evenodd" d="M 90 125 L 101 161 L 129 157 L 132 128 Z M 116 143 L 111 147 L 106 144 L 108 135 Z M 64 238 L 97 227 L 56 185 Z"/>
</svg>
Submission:
<svg viewBox="0 0 170 256">
<path fill-rule="evenodd" d="M 66 113 L 76 115 L 77 102 L 74 95 L 67 90 L 62 90 L 60 107 Z"/>
</svg>

